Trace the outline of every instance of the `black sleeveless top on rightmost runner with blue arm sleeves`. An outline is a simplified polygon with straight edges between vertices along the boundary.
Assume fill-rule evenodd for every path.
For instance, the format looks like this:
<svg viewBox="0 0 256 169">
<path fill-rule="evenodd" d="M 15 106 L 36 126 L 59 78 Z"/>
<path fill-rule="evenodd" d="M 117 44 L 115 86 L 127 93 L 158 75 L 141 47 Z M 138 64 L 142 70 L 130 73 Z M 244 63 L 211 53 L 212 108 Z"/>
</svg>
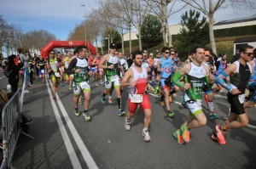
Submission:
<svg viewBox="0 0 256 169">
<path fill-rule="evenodd" d="M 247 82 L 251 76 L 251 65 L 241 65 L 237 60 L 234 62 L 236 64 L 236 74 L 230 75 L 230 87 L 237 88 L 241 93 L 245 93 L 247 88 Z"/>
</svg>

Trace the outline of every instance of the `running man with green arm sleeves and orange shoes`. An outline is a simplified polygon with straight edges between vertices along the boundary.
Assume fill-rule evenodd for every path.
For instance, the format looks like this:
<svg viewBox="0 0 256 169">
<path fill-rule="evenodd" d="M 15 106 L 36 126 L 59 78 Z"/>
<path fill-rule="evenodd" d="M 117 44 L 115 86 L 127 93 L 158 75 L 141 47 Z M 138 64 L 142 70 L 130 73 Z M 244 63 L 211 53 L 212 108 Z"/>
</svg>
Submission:
<svg viewBox="0 0 256 169">
<path fill-rule="evenodd" d="M 214 83 L 214 76 L 209 75 L 209 68 L 202 64 L 205 49 L 196 47 L 193 50 L 194 59 L 191 63 L 183 65 L 172 77 L 172 82 L 178 87 L 185 89 L 183 96 L 186 106 L 189 109 L 189 119 L 176 132 L 173 138 L 177 139 L 178 144 L 190 141 L 189 130 L 195 127 L 202 127 L 207 124 L 207 117 L 201 107 L 201 92 L 204 85 L 211 88 Z M 184 76 L 184 84 L 179 79 Z"/>
</svg>

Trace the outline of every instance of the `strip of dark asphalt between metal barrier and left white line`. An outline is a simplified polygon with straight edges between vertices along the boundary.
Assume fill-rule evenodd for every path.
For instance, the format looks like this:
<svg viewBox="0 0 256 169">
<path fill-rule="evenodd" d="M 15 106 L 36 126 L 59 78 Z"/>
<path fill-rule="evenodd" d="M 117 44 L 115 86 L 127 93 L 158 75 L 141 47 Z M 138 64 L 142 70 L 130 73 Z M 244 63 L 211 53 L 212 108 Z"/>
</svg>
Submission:
<svg viewBox="0 0 256 169">
<path fill-rule="evenodd" d="M 55 119 L 46 85 L 36 80 L 25 93 L 23 114 L 32 117 L 28 134 L 20 135 L 13 157 L 15 168 L 72 168 Z"/>
</svg>

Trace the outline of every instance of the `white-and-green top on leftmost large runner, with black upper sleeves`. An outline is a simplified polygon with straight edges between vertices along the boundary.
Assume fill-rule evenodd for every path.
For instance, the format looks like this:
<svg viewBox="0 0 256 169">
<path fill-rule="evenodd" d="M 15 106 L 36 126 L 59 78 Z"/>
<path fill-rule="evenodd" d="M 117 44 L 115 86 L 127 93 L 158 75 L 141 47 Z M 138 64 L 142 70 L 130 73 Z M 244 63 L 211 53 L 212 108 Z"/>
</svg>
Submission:
<svg viewBox="0 0 256 169">
<path fill-rule="evenodd" d="M 88 81 L 88 62 L 84 59 L 77 58 L 77 64 L 74 68 L 74 70 L 80 69 L 81 71 L 79 73 L 74 73 L 73 81 L 74 82 L 85 82 Z"/>
</svg>

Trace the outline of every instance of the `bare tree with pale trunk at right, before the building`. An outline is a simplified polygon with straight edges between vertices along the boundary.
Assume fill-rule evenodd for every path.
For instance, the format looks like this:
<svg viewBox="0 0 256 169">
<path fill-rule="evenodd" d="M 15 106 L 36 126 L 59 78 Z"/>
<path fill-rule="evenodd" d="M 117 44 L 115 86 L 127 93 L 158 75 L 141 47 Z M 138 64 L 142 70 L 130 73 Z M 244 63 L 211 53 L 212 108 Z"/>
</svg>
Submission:
<svg viewBox="0 0 256 169">
<path fill-rule="evenodd" d="M 214 24 L 214 14 L 221 7 L 226 8 L 231 6 L 235 10 L 241 8 L 253 8 L 253 0 L 181 0 L 183 3 L 188 4 L 189 6 L 201 11 L 202 14 L 205 14 L 209 19 L 209 36 L 212 46 L 212 52 L 217 54 L 215 38 L 213 33 L 213 24 Z"/>
</svg>

